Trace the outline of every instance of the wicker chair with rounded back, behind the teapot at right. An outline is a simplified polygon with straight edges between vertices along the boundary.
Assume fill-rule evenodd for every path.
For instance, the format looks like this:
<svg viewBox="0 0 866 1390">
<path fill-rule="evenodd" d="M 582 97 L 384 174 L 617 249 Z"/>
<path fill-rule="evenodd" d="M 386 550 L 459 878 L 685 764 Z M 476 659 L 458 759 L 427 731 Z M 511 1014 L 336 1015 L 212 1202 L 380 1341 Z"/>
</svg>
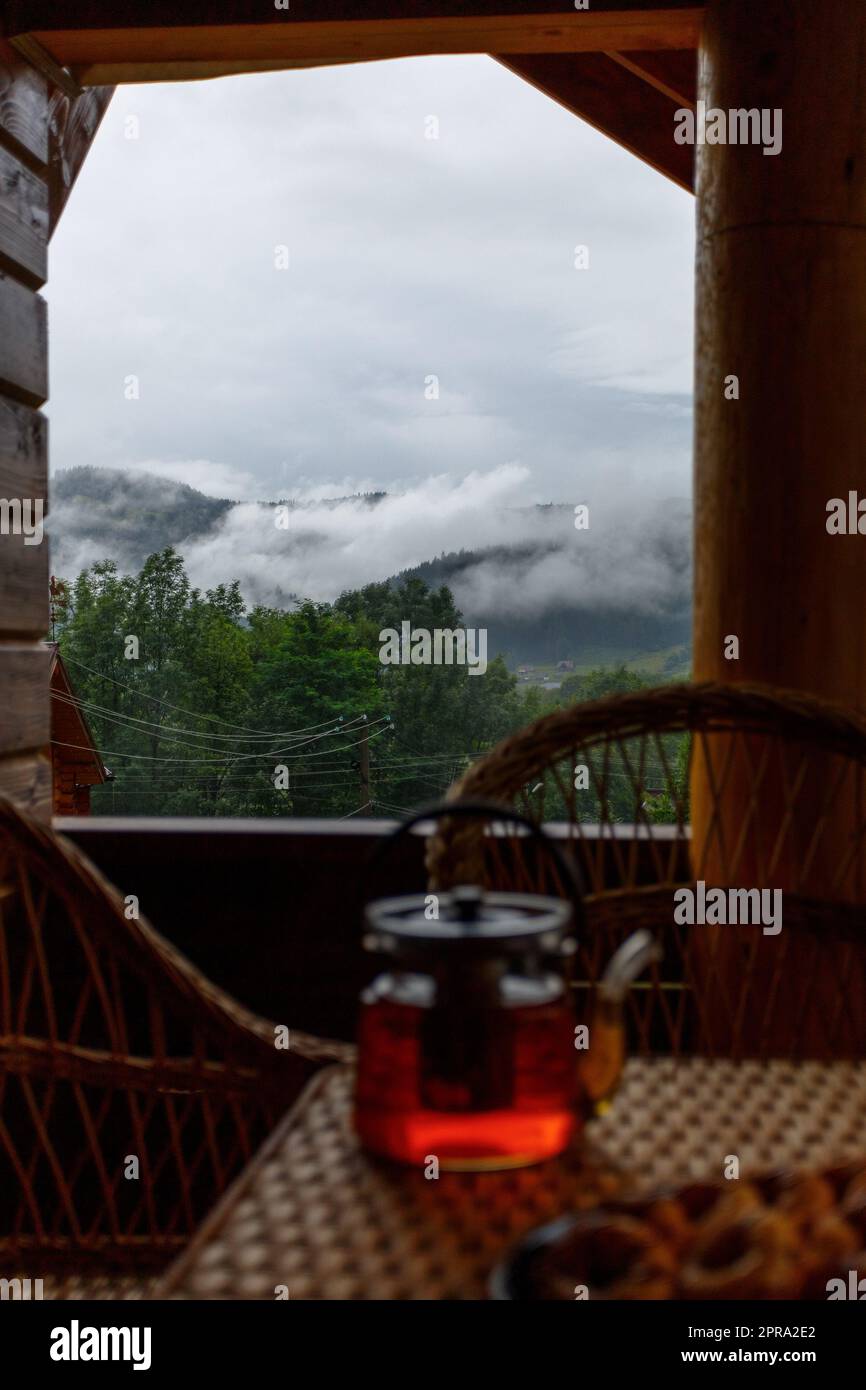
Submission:
<svg viewBox="0 0 866 1390">
<path fill-rule="evenodd" d="M 587 792 L 574 785 L 581 766 Z M 767 687 L 674 685 L 538 720 L 481 758 L 449 799 L 487 799 L 537 821 L 567 823 L 589 890 L 578 1008 L 588 1009 L 628 931 L 657 933 L 664 959 L 630 998 L 635 1051 L 863 1056 L 865 769 L 866 721 L 858 716 Z M 703 795 L 701 842 L 688 827 L 689 787 Z M 806 795 L 803 828 L 805 817 L 791 812 Z M 489 831 L 477 820 L 441 821 L 427 851 L 431 888 L 480 881 L 564 894 L 549 856 Z M 678 926 L 673 892 L 696 880 L 781 887 L 781 933 Z"/>
</svg>

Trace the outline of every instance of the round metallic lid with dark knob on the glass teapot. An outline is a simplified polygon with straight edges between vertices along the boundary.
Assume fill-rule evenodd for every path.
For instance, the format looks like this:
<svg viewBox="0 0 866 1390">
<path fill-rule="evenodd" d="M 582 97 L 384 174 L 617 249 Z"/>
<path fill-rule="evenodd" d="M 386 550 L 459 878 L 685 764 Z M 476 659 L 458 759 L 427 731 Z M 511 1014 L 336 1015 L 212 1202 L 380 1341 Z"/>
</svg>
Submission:
<svg viewBox="0 0 866 1390">
<path fill-rule="evenodd" d="M 431 897 L 436 902 L 436 917 L 427 916 Z M 510 954 L 527 948 L 562 949 L 571 906 L 560 898 L 485 892 L 467 884 L 434 895 L 381 898 L 367 906 L 366 916 L 373 927 L 364 938 L 370 951 L 402 955 L 432 948 Z"/>
</svg>

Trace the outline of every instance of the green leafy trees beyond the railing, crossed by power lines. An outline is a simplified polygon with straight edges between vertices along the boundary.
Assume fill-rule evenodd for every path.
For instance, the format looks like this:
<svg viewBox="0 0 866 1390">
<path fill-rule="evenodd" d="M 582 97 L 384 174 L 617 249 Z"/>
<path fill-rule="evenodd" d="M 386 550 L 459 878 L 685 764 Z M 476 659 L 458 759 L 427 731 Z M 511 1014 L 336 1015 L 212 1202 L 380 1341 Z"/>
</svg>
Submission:
<svg viewBox="0 0 866 1390">
<path fill-rule="evenodd" d="M 648 684 L 594 671 L 545 694 L 518 687 L 495 651 L 475 677 L 466 666 L 382 666 L 384 628 L 463 626 L 445 585 L 406 577 L 334 603 L 247 607 L 236 581 L 193 588 L 171 546 L 136 574 L 104 560 L 60 581 L 53 619 L 113 773 L 93 790 L 96 815 L 400 816 L 555 702 Z M 595 819 L 595 794 L 577 795 L 581 817 Z M 669 819 L 662 803 L 651 809 Z M 613 813 L 634 812 L 623 785 Z"/>
</svg>

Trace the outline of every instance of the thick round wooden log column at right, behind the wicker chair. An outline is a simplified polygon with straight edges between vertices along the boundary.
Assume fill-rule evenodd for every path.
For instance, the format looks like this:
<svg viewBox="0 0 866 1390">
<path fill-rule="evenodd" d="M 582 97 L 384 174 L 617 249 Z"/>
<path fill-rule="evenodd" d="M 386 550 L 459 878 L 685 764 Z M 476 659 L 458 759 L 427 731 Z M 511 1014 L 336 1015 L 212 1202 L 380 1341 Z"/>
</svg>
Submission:
<svg viewBox="0 0 866 1390">
<path fill-rule="evenodd" d="M 696 147 L 695 678 L 769 682 L 860 712 L 866 535 L 830 535 L 826 523 L 831 498 L 851 489 L 866 498 L 865 72 L 863 4 L 709 0 L 699 99 L 708 113 L 780 110 L 783 139 L 777 154 L 762 145 Z M 730 637 L 738 660 L 726 659 Z M 759 755 L 752 741 L 717 795 L 695 759 L 694 858 L 708 881 L 731 881 L 709 833 L 721 828 L 724 842 L 735 842 L 749 756 Z M 799 749 L 785 756 L 792 771 Z M 863 902 L 862 853 L 834 881 L 863 821 L 856 778 L 803 869 L 830 776 L 828 762 L 809 764 L 765 883 Z M 758 801 L 767 838 L 784 820 L 784 781 L 776 760 Z M 714 827 L 713 801 L 721 810 Z M 758 838 L 749 837 L 738 885 L 759 884 Z M 776 949 L 762 945 L 767 962 Z M 798 952 L 787 967 L 794 973 L 808 969 Z M 735 969 L 733 958 L 727 965 Z M 840 987 L 830 956 L 822 987 L 827 998 Z M 759 997 L 753 1006 L 760 1013 Z"/>
</svg>

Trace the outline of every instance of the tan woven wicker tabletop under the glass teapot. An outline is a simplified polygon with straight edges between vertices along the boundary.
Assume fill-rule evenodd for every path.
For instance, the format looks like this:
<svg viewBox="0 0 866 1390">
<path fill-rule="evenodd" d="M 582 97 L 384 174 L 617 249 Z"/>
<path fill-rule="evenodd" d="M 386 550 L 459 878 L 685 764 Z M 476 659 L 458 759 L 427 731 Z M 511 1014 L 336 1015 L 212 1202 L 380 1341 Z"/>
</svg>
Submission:
<svg viewBox="0 0 866 1390">
<path fill-rule="evenodd" d="M 157 1286 L 157 1298 L 484 1298 L 525 1230 L 617 1188 L 866 1154 L 866 1063 L 632 1059 L 553 1162 L 428 1180 L 364 1154 L 353 1073 L 321 1072 Z"/>
</svg>

